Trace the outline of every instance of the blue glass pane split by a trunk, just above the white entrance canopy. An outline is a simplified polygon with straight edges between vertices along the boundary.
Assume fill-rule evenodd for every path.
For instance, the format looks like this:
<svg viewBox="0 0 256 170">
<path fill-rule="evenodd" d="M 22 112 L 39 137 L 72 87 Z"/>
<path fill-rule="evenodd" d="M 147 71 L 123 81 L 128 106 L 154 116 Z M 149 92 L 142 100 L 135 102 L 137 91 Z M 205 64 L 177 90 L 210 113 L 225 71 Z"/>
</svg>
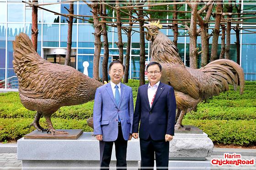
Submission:
<svg viewBox="0 0 256 170">
<path fill-rule="evenodd" d="M 68 25 L 60 25 L 60 46 L 67 47 L 68 40 Z M 72 47 L 76 47 L 76 25 L 72 26 Z"/>
</svg>

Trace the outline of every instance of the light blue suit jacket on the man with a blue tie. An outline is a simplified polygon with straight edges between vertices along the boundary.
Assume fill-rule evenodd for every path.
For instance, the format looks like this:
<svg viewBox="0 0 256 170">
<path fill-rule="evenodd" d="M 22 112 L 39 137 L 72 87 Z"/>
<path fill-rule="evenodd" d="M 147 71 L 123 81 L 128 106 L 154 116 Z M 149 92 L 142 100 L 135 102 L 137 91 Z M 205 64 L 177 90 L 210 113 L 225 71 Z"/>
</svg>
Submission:
<svg viewBox="0 0 256 170">
<path fill-rule="evenodd" d="M 133 127 L 132 88 L 121 83 L 119 105 L 113 95 L 110 83 L 96 90 L 93 107 L 94 135 L 103 135 L 103 141 L 115 141 L 118 135 L 118 115 L 121 120 L 124 140 L 128 140 Z"/>
</svg>

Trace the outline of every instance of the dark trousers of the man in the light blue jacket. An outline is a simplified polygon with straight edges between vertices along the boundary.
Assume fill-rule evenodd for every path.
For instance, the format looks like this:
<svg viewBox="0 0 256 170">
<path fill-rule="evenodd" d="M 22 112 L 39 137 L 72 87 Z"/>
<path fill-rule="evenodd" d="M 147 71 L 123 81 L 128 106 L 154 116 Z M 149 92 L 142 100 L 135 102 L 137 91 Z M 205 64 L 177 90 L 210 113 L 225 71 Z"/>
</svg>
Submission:
<svg viewBox="0 0 256 170">
<path fill-rule="evenodd" d="M 104 140 L 104 139 L 103 139 Z M 112 155 L 113 143 L 115 143 L 117 167 L 127 167 L 126 153 L 127 153 L 127 140 L 123 139 L 122 127 L 118 126 L 118 136 L 115 141 L 100 141 L 100 166 L 101 169 L 109 169 L 109 164 Z M 126 168 L 122 168 L 124 170 Z M 117 168 L 117 170 L 119 170 Z"/>
</svg>

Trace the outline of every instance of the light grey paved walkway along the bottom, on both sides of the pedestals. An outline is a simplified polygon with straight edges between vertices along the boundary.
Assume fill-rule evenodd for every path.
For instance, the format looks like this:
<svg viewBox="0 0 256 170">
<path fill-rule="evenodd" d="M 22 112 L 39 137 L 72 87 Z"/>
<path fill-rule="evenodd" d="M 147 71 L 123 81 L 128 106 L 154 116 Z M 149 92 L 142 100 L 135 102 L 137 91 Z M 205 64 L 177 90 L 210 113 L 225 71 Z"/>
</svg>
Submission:
<svg viewBox="0 0 256 170">
<path fill-rule="evenodd" d="M 212 155 L 208 158 L 211 160 L 213 158 L 223 159 L 223 155 Z M 242 156 L 243 160 L 256 160 L 255 156 Z M 17 160 L 16 153 L 0 153 L 0 170 L 21 170 L 22 163 L 21 160 Z M 181 169 L 182 170 L 182 169 Z M 211 166 L 211 170 L 256 170 L 255 165 L 244 165 L 244 166 L 235 166 L 235 165 L 225 165 L 225 166 Z"/>
</svg>

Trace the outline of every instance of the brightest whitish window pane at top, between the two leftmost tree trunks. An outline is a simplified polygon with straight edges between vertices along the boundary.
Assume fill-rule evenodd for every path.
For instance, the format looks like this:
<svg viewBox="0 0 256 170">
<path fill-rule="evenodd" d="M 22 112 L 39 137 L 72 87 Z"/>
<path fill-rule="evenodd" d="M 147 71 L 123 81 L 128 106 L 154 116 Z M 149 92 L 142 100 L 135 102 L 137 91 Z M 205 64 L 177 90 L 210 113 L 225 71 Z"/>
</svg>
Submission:
<svg viewBox="0 0 256 170">
<path fill-rule="evenodd" d="M 47 1 L 47 2 L 57 2 L 57 1 L 58 0 L 52 0 L 52 1 Z M 60 5 L 59 4 L 43 5 L 43 8 L 60 13 Z M 54 15 L 52 12 L 43 10 L 43 22 L 59 23 L 59 15 Z"/>
</svg>

